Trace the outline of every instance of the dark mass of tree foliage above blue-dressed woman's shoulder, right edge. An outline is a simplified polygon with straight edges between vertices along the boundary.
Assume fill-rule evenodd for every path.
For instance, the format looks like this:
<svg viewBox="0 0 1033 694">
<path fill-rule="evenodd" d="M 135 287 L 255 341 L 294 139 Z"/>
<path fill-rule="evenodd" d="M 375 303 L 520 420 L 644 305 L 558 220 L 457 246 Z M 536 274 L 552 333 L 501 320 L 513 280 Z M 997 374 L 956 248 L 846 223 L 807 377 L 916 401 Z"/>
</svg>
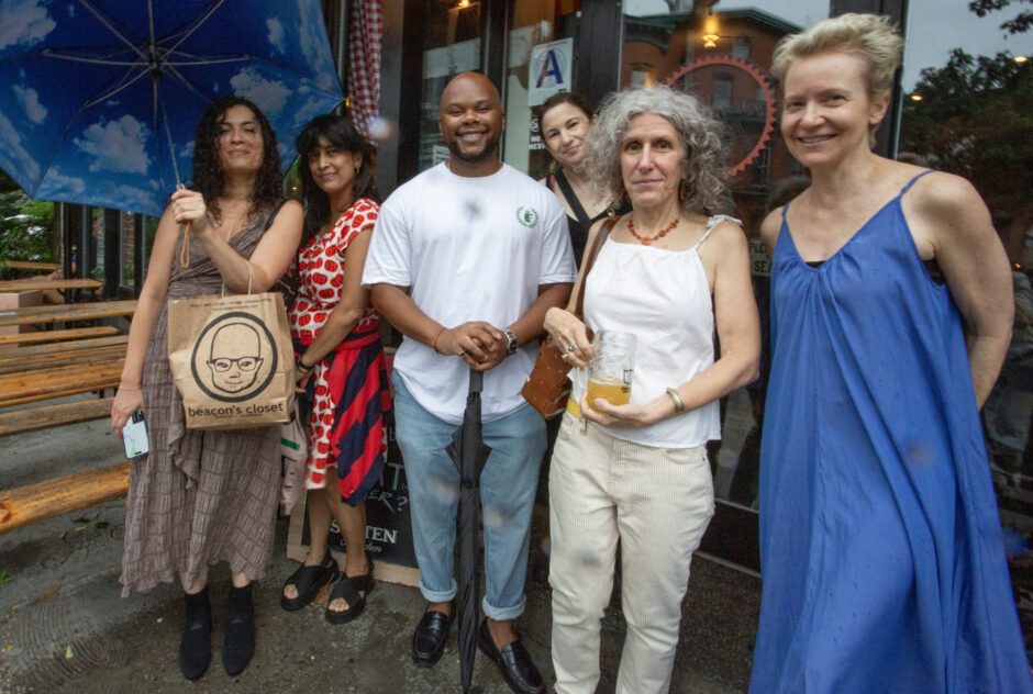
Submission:
<svg viewBox="0 0 1033 694">
<path fill-rule="evenodd" d="M 1003 2 L 1007 0 L 985 0 Z M 921 101 L 903 107 L 901 152 L 967 178 L 998 228 L 1028 219 L 1033 190 L 1033 69 L 1007 53 L 973 57 L 955 48 L 942 68 L 926 68 Z"/>
</svg>

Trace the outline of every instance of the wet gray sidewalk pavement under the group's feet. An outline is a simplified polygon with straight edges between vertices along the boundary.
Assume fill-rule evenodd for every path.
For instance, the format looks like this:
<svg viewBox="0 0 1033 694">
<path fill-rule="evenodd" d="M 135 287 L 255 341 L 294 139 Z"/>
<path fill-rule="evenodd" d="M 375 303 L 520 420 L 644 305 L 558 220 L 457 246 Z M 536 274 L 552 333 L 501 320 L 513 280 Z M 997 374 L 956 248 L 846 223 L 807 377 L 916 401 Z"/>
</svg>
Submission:
<svg viewBox="0 0 1033 694">
<path fill-rule="evenodd" d="M 0 455 L 0 488 L 112 462 L 118 451 L 110 437 L 104 422 L 10 437 Z M 69 450 L 91 452 L 73 460 Z M 105 450 L 114 450 L 115 457 L 105 460 L 105 454 L 97 452 Z M 278 525 L 274 561 L 255 584 L 257 648 L 249 667 L 236 678 L 222 668 L 229 571 L 221 564 L 210 577 L 212 664 L 198 682 L 185 681 L 176 663 L 182 626 L 178 587 L 162 585 L 146 595 L 119 596 L 124 506 L 122 500 L 108 502 L 0 535 L 0 694 L 462 691 L 455 629 L 435 668 L 420 669 L 410 660 L 412 628 L 424 607 L 415 589 L 378 583 L 363 616 L 346 625 L 327 624 L 322 605 L 284 612 L 280 585 L 297 566 L 286 558 L 286 518 Z M 535 514 L 527 609 L 518 625 L 551 683 L 541 511 Z M 682 606 L 673 693 L 746 691 L 759 593 L 757 579 L 696 558 Z M 615 596 L 603 618 L 599 692 L 613 691 L 623 637 Z M 495 664 L 480 653 L 474 684 L 481 694 L 509 692 Z"/>
</svg>

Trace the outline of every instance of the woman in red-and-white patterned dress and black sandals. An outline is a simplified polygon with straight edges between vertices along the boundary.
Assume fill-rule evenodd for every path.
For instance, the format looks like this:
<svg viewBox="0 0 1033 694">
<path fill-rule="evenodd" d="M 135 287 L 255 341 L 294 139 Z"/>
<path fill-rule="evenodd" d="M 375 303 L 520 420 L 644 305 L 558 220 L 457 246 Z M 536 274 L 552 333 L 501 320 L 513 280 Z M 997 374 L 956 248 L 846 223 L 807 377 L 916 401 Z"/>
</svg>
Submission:
<svg viewBox="0 0 1033 694">
<path fill-rule="evenodd" d="M 384 468 L 384 412 L 390 407 L 380 320 L 360 284 L 379 205 L 369 147 L 347 119 L 314 119 L 296 145 L 306 219 L 290 328 L 298 390 L 312 407 L 306 472 L 310 545 L 280 604 L 301 609 L 337 578 L 327 546 L 333 518 L 347 559 L 325 616 L 342 624 L 362 614 L 373 587 L 363 502 Z"/>
</svg>

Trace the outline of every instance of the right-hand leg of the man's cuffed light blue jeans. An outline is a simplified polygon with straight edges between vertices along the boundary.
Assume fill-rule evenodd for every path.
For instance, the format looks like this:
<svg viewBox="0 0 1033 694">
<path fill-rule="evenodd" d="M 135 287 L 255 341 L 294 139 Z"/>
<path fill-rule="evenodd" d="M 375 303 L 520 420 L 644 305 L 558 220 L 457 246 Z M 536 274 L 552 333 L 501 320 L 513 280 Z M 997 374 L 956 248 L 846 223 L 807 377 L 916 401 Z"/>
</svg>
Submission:
<svg viewBox="0 0 1033 694">
<path fill-rule="evenodd" d="M 480 475 L 485 514 L 485 614 L 515 619 L 524 611 L 531 512 L 545 455 L 545 419 L 533 407 L 484 425 L 491 448 Z"/>
</svg>

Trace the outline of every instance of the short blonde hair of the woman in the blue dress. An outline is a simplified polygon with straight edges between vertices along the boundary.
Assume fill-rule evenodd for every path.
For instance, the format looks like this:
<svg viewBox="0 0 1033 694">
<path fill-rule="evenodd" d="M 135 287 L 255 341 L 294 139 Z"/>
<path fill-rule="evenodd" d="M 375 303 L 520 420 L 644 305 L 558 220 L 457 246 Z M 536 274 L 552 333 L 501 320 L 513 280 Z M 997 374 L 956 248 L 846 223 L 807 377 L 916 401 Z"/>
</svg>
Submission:
<svg viewBox="0 0 1033 694">
<path fill-rule="evenodd" d="M 771 75 L 785 86 L 793 60 L 825 51 L 860 57 L 866 67 L 868 97 L 875 100 L 893 86 L 893 74 L 903 57 L 903 38 L 888 16 L 841 14 L 779 41 L 771 59 Z"/>
</svg>

